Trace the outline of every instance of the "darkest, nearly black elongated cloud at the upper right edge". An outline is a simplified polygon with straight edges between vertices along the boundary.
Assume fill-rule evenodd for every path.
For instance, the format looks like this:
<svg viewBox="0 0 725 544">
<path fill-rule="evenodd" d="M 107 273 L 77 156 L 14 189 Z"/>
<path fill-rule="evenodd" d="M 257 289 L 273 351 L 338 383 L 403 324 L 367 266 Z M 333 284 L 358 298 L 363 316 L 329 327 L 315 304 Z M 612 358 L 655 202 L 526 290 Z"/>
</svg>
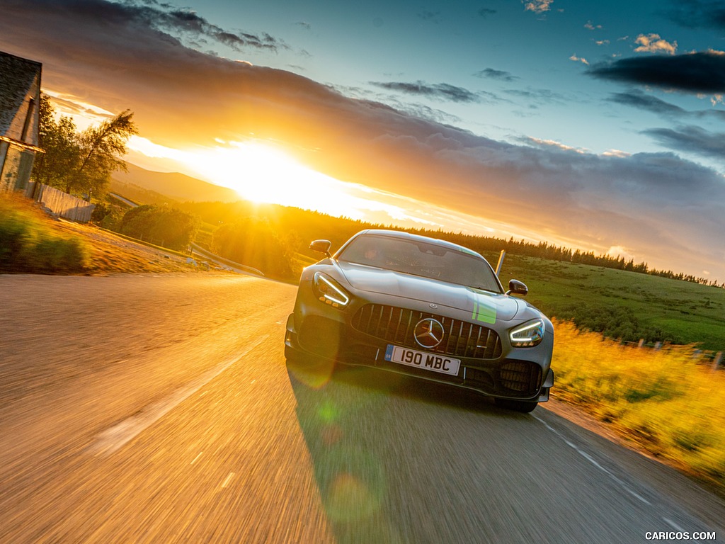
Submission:
<svg viewBox="0 0 725 544">
<path fill-rule="evenodd" d="M 629 57 L 592 66 L 587 73 L 595 78 L 686 93 L 725 92 L 725 54 L 716 51 Z"/>
</svg>

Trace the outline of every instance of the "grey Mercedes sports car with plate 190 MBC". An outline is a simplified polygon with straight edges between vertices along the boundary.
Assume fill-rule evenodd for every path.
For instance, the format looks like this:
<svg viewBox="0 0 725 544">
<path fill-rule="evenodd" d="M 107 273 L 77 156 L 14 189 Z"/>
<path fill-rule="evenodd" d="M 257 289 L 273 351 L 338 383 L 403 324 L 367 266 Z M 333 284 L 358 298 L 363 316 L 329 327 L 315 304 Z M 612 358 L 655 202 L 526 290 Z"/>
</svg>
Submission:
<svg viewBox="0 0 725 544">
<path fill-rule="evenodd" d="M 287 320 L 288 359 L 364 365 L 475 390 L 530 412 L 549 399 L 554 329 L 505 292 L 491 265 L 465 247 L 368 230 L 302 271 Z"/>
</svg>

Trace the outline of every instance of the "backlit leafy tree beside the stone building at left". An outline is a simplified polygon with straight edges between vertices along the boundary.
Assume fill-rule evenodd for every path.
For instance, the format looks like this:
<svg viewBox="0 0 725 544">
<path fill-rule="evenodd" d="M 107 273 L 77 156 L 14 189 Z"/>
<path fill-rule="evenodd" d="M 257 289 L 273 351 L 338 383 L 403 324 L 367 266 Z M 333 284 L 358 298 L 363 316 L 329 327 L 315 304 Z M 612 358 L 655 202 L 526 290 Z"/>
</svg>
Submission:
<svg viewBox="0 0 725 544">
<path fill-rule="evenodd" d="M 55 120 L 48 96 L 41 95 L 38 144 L 45 152 L 33 179 L 69 194 L 102 194 L 115 170 L 126 169 L 126 142 L 138 133 L 133 112 L 125 110 L 81 133 L 69 117 Z"/>
</svg>

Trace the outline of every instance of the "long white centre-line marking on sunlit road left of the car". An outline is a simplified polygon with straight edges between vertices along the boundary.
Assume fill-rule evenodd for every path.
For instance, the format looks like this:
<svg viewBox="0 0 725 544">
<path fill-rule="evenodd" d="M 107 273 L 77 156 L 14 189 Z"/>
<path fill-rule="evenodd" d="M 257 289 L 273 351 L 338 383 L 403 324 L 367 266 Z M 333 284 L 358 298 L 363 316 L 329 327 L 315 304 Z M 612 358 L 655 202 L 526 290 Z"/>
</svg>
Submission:
<svg viewBox="0 0 725 544">
<path fill-rule="evenodd" d="M 254 350 L 255 347 L 268 339 L 268 337 L 268 334 L 260 337 L 260 339 L 257 339 L 257 342 L 254 342 L 254 344 L 247 347 L 247 349 L 240 355 L 236 355 L 231 359 L 225 360 L 223 363 L 218 364 L 211 370 L 202 374 L 202 376 L 199 376 L 199 378 L 195 379 L 193 382 L 176 390 L 168 397 L 159 400 L 157 403 L 146 406 L 146 408 L 143 408 L 136 414 L 136 416 L 124 419 L 119 424 L 101 432 L 101 434 L 96 436 L 94 443 L 88 447 L 88 451 L 90 451 L 90 453 L 94 456 L 110 455 L 111 453 L 114 453 L 116 450 L 125 445 L 126 442 L 133 440 L 133 438 L 144 431 L 144 429 L 161 419 L 162 416 L 165 416 L 166 413 L 173 410 L 173 408 L 181 404 L 188 397 L 194 395 L 196 391 L 211 382 L 216 376 L 221 374 L 238 360 L 241 360 L 241 358 L 244 358 L 245 355 Z"/>
</svg>

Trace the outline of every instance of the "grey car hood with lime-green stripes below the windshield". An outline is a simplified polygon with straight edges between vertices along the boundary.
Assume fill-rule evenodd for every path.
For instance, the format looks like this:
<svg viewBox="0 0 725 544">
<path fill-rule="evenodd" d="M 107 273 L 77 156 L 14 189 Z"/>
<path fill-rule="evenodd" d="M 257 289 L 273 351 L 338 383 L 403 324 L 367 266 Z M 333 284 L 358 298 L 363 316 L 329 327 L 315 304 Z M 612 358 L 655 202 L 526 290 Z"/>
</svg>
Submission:
<svg viewBox="0 0 725 544">
<path fill-rule="evenodd" d="M 350 287 L 363 292 L 389 294 L 471 312 L 473 321 L 510 321 L 526 302 L 506 294 L 449 284 L 444 281 L 355 263 L 337 263 Z"/>
</svg>

